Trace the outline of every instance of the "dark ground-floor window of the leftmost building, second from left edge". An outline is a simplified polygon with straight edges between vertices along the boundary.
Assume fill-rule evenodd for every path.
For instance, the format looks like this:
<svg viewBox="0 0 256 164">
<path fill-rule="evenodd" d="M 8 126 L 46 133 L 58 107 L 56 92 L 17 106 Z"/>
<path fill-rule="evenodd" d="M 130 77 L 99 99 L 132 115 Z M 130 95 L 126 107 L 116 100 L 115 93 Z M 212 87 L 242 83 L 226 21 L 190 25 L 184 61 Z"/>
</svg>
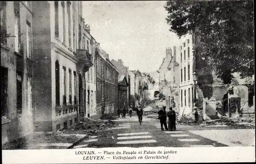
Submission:
<svg viewBox="0 0 256 164">
<path fill-rule="evenodd" d="M 16 71 L 17 114 L 22 114 L 22 83 L 23 73 Z"/>
</svg>

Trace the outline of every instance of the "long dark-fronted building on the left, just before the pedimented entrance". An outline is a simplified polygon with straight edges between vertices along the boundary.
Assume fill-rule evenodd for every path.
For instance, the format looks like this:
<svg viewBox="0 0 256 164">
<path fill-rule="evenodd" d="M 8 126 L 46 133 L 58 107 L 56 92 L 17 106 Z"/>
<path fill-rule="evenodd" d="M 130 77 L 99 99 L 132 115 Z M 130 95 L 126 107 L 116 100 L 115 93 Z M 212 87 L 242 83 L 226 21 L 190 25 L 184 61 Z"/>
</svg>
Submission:
<svg viewBox="0 0 256 164">
<path fill-rule="evenodd" d="M 109 54 L 96 45 L 96 113 L 95 117 L 103 114 L 116 113 L 118 106 L 118 71 L 110 62 Z"/>
</svg>

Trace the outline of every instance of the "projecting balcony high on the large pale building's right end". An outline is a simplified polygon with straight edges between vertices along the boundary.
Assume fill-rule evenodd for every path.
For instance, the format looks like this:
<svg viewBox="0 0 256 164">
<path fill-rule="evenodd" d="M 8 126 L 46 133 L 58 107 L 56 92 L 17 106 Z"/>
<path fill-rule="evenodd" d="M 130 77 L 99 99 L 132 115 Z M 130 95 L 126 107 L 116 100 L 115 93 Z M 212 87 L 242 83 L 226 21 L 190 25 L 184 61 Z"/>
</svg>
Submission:
<svg viewBox="0 0 256 164">
<path fill-rule="evenodd" d="M 87 72 L 93 66 L 93 56 L 86 49 L 77 49 L 78 68 L 82 72 Z"/>
</svg>

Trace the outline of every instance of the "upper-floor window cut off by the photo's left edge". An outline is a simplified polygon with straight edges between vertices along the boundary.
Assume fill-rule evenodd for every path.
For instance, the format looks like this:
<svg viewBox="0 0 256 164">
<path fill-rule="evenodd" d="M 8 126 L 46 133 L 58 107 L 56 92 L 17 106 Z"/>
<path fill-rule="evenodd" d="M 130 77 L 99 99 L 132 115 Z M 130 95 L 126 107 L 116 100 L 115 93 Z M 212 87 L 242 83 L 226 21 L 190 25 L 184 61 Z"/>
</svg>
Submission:
<svg viewBox="0 0 256 164">
<path fill-rule="evenodd" d="M 7 45 L 7 29 L 6 29 L 6 2 L 0 2 L 0 17 L 1 17 L 1 44 Z"/>
</svg>

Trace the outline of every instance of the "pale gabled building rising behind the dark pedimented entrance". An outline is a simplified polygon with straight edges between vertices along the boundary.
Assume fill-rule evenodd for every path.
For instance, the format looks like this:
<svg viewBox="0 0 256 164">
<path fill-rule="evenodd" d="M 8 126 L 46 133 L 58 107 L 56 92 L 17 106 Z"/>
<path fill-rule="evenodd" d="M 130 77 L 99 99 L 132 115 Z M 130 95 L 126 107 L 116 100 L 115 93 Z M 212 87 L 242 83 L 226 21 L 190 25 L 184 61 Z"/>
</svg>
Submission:
<svg viewBox="0 0 256 164">
<path fill-rule="evenodd" d="M 115 60 L 111 60 L 111 63 L 117 68 L 118 70 L 118 79 L 120 79 L 120 77 L 122 75 L 125 76 L 126 80 L 127 80 L 127 83 L 128 83 L 128 88 L 127 88 L 127 107 L 128 108 L 131 103 L 130 103 L 130 100 L 131 100 L 131 77 L 129 75 L 129 68 L 128 67 L 125 67 L 123 65 L 123 61 L 121 59 L 118 59 L 118 61 L 115 61 Z"/>
</svg>

